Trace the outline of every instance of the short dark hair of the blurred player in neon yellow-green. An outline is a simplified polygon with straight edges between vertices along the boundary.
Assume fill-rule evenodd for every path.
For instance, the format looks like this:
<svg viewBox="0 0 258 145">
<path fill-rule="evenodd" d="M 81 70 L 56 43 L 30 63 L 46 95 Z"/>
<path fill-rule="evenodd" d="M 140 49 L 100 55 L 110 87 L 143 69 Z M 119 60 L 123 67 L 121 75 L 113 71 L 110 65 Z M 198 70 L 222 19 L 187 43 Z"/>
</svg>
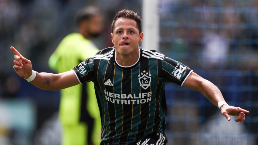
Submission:
<svg viewBox="0 0 258 145">
<path fill-rule="evenodd" d="M 91 17 L 96 15 L 100 15 L 100 10 L 94 6 L 88 6 L 79 10 L 79 12 L 76 14 L 77 25 L 79 25 L 81 21 L 89 20 Z"/>
</svg>

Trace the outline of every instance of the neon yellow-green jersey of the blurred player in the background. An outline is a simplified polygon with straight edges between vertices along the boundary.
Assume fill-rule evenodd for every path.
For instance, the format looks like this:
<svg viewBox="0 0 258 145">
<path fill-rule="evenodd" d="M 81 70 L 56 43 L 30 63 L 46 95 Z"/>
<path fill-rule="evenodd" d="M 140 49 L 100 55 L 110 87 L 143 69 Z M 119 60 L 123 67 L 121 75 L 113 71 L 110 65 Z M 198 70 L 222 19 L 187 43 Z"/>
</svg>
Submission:
<svg viewBox="0 0 258 145">
<path fill-rule="evenodd" d="M 49 66 L 58 73 L 69 71 L 73 66 L 94 56 L 99 49 L 80 33 L 67 35 L 49 58 Z M 92 82 L 61 90 L 59 120 L 62 125 L 77 125 L 89 120 L 86 112 L 94 119 L 93 140 L 100 142 L 100 115 Z M 91 134 L 91 132 L 90 132 Z M 75 134 L 76 136 L 76 134 Z M 90 140 L 90 139 L 88 139 Z"/>
</svg>

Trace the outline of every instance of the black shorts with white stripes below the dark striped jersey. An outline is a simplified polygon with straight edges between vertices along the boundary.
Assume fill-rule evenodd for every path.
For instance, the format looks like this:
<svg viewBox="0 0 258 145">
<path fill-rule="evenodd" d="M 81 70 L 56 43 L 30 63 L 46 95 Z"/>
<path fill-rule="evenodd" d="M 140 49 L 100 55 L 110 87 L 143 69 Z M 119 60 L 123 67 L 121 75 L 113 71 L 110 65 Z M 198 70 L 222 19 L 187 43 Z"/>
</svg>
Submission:
<svg viewBox="0 0 258 145">
<path fill-rule="evenodd" d="M 135 145 L 166 145 L 167 137 L 163 133 L 151 134 L 138 141 Z"/>
</svg>

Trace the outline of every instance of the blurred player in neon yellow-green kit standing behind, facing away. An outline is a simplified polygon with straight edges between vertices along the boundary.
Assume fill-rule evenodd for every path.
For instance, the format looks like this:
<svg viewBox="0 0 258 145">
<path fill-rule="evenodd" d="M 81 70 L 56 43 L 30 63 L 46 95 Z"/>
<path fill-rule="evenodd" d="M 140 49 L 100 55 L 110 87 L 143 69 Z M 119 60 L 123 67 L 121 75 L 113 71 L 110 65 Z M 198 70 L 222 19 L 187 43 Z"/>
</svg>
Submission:
<svg viewBox="0 0 258 145">
<path fill-rule="evenodd" d="M 49 66 L 66 72 L 99 51 L 90 40 L 102 32 L 103 18 L 98 8 L 89 6 L 77 14 L 78 32 L 67 35 L 49 58 Z M 59 121 L 63 145 L 93 145 L 101 141 L 101 120 L 93 82 L 60 92 Z"/>
</svg>

